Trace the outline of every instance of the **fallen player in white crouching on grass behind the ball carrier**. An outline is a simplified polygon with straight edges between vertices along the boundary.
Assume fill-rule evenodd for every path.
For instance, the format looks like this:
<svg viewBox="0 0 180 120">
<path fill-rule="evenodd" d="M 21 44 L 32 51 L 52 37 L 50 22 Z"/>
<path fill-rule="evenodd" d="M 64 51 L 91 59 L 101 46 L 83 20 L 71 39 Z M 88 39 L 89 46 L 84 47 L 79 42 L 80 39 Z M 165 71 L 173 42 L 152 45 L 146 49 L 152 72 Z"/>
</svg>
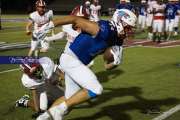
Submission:
<svg viewBox="0 0 180 120">
<path fill-rule="evenodd" d="M 16 107 L 30 107 L 37 112 L 35 115 L 38 115 L 47 110 L 48 105 L 52 104 L 55 99 L 63 96 L 63 91 L 57 86 L 58 76 L 62 76 L 63 73 L 57 69 L 57 65 L 50 58 L 43 57 L 36 63 L 22 64 L 20 68 L 23 71 L 22 84 L 32 91 L 32 100 L 28 95 L 24 95 L 16 101 Z M 57 92 L 57 96 L 51 94 L 52 87 Z"/>
</svg>

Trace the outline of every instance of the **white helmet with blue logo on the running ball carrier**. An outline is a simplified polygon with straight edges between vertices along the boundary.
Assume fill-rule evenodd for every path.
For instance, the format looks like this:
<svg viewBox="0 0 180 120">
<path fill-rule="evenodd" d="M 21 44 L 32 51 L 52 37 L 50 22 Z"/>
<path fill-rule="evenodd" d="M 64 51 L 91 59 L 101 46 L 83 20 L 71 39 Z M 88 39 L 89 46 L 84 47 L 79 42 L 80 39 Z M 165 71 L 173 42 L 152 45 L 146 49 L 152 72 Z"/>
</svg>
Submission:
<svg viewBox="0 0 180 120">
<path fill-rule="evenodd" d="M 117 25 L 122 24 L 122 22 L 124 22 L 127 25 L 134 27 L 136 25 L 137 17 L 132 11 L 128 9 L 120 9 L 115 11 L 112 20 Z"/>
</svg>

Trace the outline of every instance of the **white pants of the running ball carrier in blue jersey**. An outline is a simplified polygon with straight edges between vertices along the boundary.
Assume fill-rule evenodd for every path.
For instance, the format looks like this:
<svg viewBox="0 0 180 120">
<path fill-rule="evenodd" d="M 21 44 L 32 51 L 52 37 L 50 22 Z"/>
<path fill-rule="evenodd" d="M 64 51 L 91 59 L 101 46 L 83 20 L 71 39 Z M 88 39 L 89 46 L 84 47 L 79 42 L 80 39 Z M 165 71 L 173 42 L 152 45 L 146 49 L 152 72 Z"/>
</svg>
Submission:
<svg viewBox="0 0 180 120">
<path fill-rule="evenodd" d="M 68 81 L 66 81 L 66 85 L 72 84 L 74 91 L 78 91 L 80 89 L 79 86 L 81 86 L 82 88 L 100 94 L 99 92 L 102 91 L 102 86 L 98 82 L 95 74 L 87 66 L 82 64 L 77 58 L 66 54 L 62 55 L 60 61 L 60 65 L 63 68 L 63 71 L 68 75 Z M 77 85 L 75 86 L 74 84 Z M 65 97 L 67 99 L 75 94 L 71 88 L 72 86 L 69 86 L 69 92 L 65 92 Z"/>
</svg>

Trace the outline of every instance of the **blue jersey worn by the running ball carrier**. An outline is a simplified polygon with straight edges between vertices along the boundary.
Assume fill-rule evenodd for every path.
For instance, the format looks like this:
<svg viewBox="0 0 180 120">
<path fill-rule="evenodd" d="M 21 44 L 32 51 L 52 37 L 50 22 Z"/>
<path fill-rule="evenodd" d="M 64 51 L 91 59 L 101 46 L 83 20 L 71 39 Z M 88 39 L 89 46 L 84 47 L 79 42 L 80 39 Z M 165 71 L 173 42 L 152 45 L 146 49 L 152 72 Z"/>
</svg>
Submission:
<svg viewBox="0 0 180 120">
<path fill-rule="evenodd" d="M 118 44 L 116 28 L 109 21 L 98 22 L 100 30 L 96 37 L 81 33 L 70 45 L 70 49 L 85 65 L 110 46 Z"/>
</svg>

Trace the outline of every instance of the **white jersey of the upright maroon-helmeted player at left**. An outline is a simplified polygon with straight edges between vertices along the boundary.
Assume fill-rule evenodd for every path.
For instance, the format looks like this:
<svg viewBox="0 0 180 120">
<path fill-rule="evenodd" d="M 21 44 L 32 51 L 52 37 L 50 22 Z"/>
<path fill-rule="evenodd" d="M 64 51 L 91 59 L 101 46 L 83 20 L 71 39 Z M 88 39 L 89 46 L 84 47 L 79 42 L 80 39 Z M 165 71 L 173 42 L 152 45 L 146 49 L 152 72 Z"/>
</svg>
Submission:
<svg viewBox="0 0 180 120">
<path fill-rule="evenodd" d="M 34 30 L 38 30 L 43 25 L 50 22 L 52 20 L 52 18 L 53 18 L 53 11 L 52 10 L 48 10 L 42 16 L 39 15 L 39 13 L 37 11 L 35 11 L 35 12 L 31 13 L 30 16 L 29 16 L 29 19 L 34 24 Z"/>
</svg>

